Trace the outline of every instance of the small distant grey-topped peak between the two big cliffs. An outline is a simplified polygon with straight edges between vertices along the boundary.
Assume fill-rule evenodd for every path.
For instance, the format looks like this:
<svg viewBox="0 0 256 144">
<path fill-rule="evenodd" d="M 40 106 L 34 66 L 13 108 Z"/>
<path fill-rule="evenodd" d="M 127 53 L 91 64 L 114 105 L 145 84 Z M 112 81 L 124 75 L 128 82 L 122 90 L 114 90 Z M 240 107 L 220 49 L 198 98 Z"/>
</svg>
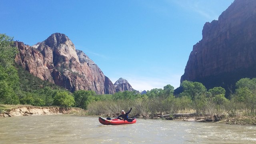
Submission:
<svg viewBox="0 0 256 144">
<path fill-rule="evenodd" d="M 126 90 L 128 91 L 134 91 L 132 86 L 129 84 L 129 82 L 123 78 L 119 78 L 115 83 L 114 86 L 116 88 L 116 92 L 124 92 Z"/>
</svg>

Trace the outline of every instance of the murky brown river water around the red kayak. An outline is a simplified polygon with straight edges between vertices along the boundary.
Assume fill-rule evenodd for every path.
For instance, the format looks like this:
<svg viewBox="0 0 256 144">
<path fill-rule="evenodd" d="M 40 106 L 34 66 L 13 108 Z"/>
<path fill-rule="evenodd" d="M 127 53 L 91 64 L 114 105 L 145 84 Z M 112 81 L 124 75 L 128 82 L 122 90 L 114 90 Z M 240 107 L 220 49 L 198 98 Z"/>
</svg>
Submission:
<svg viewBox="0 0 256 144">
<path fill-rule="evenodd" d="M 102 125 L 72 115 L 0 118 L 0 144 L 255 144 L 256 126 L 137 119 Z"/>
</svg>

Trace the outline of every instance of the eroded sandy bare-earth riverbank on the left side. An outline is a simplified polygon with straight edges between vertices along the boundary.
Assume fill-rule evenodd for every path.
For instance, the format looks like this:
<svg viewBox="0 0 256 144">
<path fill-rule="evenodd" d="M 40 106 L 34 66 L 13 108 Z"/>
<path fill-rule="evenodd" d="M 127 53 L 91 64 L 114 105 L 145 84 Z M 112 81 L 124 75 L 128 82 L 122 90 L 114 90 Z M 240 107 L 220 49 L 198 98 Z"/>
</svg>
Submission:
<svg viewBox="0 0 256 144">
<path fill-rule="evenodd" d="M 32 115 L 52 115 L 52 114 L 82 114 L 85 111 L 81 108 L 65 107 L 37 107 L 37 106 L 14 106 L 12 108 L 2 109 L 0 117 L 12 116 L 32 116 Z"/>
</svg>

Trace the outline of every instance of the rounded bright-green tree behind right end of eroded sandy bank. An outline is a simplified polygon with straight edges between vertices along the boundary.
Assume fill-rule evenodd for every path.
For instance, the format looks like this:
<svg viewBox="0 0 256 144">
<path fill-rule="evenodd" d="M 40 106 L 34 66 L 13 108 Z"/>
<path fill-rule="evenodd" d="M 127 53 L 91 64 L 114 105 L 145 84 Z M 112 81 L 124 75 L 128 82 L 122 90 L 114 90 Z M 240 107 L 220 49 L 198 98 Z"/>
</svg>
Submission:
<svg viewBox="0 0 256 144">
<path fill-rule="evenodd" d="M 71 107 L 74 106 L 75 100 L 68 92 L 57 92 L 53 98 L 53 104 L 56 106 Z"/>
</svg>

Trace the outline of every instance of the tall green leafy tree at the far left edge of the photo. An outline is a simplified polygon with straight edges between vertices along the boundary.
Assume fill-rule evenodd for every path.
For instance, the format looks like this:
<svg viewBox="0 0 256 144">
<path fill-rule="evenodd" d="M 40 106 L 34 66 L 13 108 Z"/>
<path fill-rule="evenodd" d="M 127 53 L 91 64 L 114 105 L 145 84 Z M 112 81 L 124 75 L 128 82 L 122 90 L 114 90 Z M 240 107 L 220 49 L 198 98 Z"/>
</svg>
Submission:
<svg viewBox="0 0 256 144">
<path fill-rule="evenodd" d="M 20 83 L 14 57 L 17 48 L 13 46 L 13 38 L 0 34 L 0 104 L 18 104 Z"/>
</svg>

